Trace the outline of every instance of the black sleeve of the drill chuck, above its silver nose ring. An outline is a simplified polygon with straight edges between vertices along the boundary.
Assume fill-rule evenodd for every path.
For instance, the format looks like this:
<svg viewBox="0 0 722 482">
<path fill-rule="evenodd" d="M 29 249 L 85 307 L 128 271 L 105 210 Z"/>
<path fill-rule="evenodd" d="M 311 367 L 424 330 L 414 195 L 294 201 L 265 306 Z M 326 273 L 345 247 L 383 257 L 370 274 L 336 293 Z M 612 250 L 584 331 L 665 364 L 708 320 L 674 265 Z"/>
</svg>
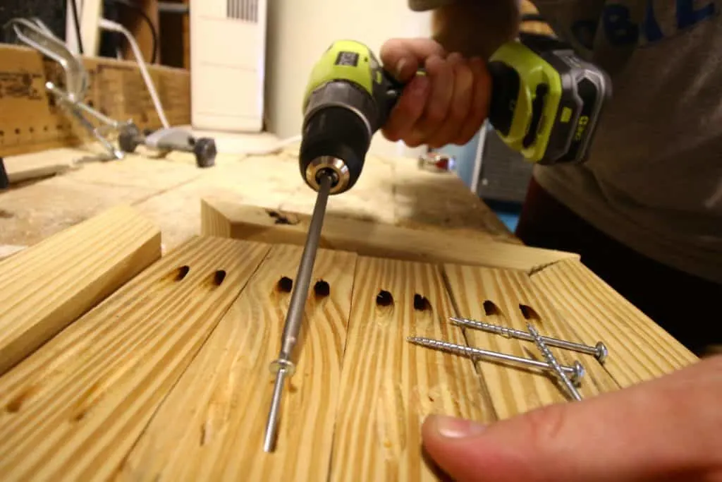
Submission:
<svg viewBox="0 0 722 482">
<path fill-rule="evenodd" d="M 341 106 L 319 108 L 306 119 L 299 152 L 299 168 L 305 171 L 313 160 L 331 156 L 344 160 L 349 169 L 350 189 L 361 176 L 370 135 L 365 122 L 355 111 Z"/>
</svg>

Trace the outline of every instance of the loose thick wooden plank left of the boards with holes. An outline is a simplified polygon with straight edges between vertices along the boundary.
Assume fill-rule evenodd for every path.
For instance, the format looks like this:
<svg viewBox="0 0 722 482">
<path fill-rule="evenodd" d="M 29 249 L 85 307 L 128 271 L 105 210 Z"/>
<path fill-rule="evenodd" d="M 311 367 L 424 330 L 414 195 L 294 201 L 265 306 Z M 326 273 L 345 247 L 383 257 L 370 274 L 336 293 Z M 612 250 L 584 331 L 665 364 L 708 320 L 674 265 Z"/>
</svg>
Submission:
<svg viewBox="0 0 722 482">
<path fill-rule="evenodd" d="M 160 257 L 160 231 L 116 207 L 0 262 L 0 374 Z"/>
</svg>

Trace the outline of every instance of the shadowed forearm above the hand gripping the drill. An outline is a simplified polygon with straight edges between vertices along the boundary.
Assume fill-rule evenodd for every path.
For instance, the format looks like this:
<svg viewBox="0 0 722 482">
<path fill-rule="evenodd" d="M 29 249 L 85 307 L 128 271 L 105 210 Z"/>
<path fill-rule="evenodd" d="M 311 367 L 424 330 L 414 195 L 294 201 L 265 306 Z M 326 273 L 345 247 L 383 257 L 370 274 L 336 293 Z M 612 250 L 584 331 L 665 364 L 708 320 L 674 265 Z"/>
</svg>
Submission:
<svg viewBox="0 0 722 482">
<path fill-rule="evenodd" d="M 418 3 L 417 3 L 418 2 Z M 487 59 L 501 44 L 516 38 L 517 0 L 409 0 L 432 10 L 432 38 L 447 51 Z"/>
</svg>

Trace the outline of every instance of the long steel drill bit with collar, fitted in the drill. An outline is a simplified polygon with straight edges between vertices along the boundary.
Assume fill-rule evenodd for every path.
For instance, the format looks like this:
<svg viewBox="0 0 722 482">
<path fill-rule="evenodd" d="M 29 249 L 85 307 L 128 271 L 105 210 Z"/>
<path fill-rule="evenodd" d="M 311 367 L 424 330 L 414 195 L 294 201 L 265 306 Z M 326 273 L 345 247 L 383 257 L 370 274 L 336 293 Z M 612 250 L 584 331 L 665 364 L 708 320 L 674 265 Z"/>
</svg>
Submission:
<svg viewBox="0 0 722 482">
<path fill-rule="evenodd" d="M 318 241 L 321 238 L 323 217 L 326 215 L 326 205 L 331 191 L 331 176 L 323 176 L 320 180 L 316 205 L 313 207 L 313 216 L 308 226 L 308 237 L 303 246 L 301 262 L 298 266 L 296 282 L 291 293 L 291 302 L 288 305 L 286 322 L 281 335 L 281 350 L 276 360 L 271 363 L 271 373 L 276 374 L 271 408 L 268 421 L 266 421 L 266 434 L 264 436 L 264 452 L 273 452 L 276 447 L 278 432 L 278 417 L 281 408 L 283 384 L 286 376 L 293 376 L 296 366 L 292 361 L 293 351 L 298 342 L 298 335 L 303 322 L 303 308 L 308 297 L 308 288 L 313 274 L 313 264 L 316 262 Z"/>
</svg>

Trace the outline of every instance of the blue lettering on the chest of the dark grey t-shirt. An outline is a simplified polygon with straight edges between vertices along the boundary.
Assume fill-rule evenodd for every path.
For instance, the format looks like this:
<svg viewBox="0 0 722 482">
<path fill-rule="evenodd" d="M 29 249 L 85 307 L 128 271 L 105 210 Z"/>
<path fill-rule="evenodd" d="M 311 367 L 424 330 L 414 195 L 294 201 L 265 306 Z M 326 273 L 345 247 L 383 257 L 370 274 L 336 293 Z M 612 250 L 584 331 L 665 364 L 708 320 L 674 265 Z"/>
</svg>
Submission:
<svg viewBox="0 0 722 482">
<path fill-rule="evenodd" d="M 665 0 L 672 3 L 672 0 Z M 609 2 L 601 12 L 601 19 L 581 19 L 572 25 L 572 33 L 585 48 L 593 48 L 593 38 L 599 28 L 613 46 L 649 45 L 666 38 L 674 37 L 689 30 L 718 14 L 715 1 L 706 3 L 695 0 L 674 0 L 674 25 L 660 25 L 656 16 L 654 1 L 647 0 L 645 14 L 641 22 L 635 22 L 630 9 L 624 4 Z"/>
</svg>

